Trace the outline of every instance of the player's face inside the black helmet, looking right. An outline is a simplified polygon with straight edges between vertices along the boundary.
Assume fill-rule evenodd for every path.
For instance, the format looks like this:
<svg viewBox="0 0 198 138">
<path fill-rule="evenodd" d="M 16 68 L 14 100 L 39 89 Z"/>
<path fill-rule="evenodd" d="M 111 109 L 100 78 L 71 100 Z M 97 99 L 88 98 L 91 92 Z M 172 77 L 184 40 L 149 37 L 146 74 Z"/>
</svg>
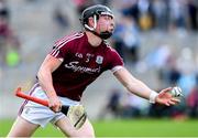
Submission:
<svg viewBox="0 0 198 138">
<path fill-rule="evenodd" d="M 113 32 L 114 31 L 114 19 L 111 15 L 100 15 L 98 23 L 97 23 L 97 29 L 96 31 L 98 33 L 100 32 Z"/>
</svg>

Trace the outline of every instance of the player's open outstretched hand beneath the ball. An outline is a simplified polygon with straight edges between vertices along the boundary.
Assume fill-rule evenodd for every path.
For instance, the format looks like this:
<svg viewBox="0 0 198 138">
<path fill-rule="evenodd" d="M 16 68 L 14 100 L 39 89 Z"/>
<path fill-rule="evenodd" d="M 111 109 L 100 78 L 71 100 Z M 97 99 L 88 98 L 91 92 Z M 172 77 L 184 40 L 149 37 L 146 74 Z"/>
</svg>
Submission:
<svg viewBox="0 0 198 138">
<path fill-rule="evenodd" d="M 169 93 L 172 89 L 173 87 L 168 87 L 161 91 L 158 96 L 155 98 L 155 102 L 166 106 L 176 105 L 180 103 L 180 100 L 176 98 L 176 96 Z"/>
</svg>

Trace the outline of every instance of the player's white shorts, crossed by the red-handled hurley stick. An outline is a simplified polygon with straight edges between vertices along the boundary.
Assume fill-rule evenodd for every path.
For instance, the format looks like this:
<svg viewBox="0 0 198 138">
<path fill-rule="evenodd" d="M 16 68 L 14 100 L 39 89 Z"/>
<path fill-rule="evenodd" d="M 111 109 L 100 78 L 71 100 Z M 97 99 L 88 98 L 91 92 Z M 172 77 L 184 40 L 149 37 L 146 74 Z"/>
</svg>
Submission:
<svg viewBox="0 0 198 138">
<path fill-rule="evenodd" d="M 45 92 L 38 86 L 38 84 L 35 84 L 34 87 L 30 92 L 31 96 L 47 99 L 47 95 Z M 72 100 L 66 97 L 59 97 L 63 105 L 79 105 L 79 102 Z M 63 113 L 54 113 L 48 107 L 45 107 L 43 105 L 25 100 L 19 112 L 19 115 L 24 118 L 25 120 L 40 125 L 41 127 L 45 127 L 47 123 L 55 124 L 58 119 L 65 117 Z"/>
</svg>

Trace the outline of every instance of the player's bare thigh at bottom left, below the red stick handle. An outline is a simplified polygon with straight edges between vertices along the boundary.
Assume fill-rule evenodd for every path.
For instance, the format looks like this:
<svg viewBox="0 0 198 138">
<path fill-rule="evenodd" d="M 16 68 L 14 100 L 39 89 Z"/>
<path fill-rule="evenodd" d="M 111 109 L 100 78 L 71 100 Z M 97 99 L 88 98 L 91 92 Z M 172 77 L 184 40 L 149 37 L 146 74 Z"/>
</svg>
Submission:
<svg viewBox="0 0 198 138">
<path fill-rule="evenodd" d="M 30 137 L 37 128 L 38 125 L 34 125 L 19 116 L 8 134 L 8 137 Z"/>
</svg>

